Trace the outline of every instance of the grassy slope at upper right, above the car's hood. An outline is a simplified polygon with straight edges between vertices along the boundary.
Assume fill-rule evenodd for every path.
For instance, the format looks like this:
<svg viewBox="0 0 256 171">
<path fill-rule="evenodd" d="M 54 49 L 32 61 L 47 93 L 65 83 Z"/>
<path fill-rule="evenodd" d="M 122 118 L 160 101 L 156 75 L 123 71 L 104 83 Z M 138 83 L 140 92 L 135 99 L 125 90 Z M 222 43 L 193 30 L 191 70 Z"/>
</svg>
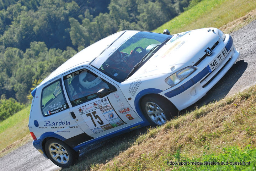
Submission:
<svg viewBox="0 0 256 171">
<path fill-rule="evenodd" d="M 203 0 L 153 32 L 162 33 L 167 28 L 175 34 L 205 27 L 220 28 L 245 16 L 255 7 L 255 0 Z"/>
</svg>

